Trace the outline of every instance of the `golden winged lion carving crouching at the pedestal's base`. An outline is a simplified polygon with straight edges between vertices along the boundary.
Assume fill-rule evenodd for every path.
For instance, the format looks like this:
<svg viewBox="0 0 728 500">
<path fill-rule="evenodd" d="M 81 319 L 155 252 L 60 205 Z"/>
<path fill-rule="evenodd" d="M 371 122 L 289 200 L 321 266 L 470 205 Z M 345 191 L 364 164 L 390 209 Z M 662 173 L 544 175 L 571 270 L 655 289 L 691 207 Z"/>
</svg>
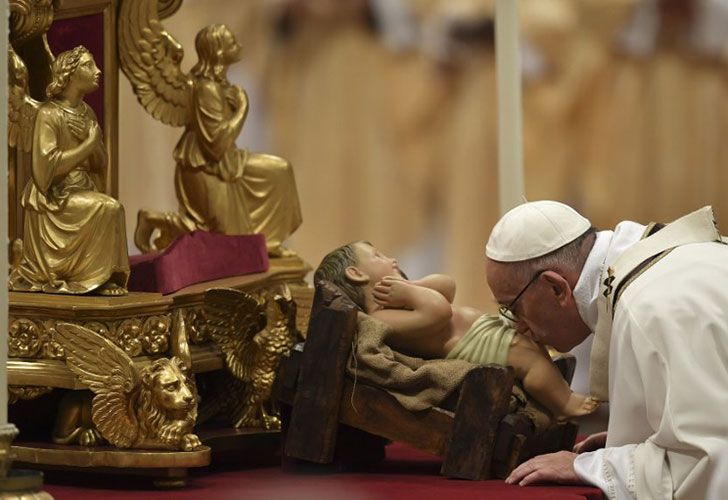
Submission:
<svg viewBox="0 0 728 500">
<path fill-rule="evenodd" d="M 54 441 L 92 445 L 99 443 L 100 434 L 119 448 L 192 451 L 201 446 L 192 432 L 197 400 L 188 369 L 178 358 L 137 367 L 108 339 L 70 323 L 56 325 L 56 340 L 66 351 L 68 367 L 94 396 L 90 412 L 78 396 L 68 404 L 71 408 L 59 412 L 63 418 Z M 81 399 L 88 394 L 74 393 Z"/>
</svg>

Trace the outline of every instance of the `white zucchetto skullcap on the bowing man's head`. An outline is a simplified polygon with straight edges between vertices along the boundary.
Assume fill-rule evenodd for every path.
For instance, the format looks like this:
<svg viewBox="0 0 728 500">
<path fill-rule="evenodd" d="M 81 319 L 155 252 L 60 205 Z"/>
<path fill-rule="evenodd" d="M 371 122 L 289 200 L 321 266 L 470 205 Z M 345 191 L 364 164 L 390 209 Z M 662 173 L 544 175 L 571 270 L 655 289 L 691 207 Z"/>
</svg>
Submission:
<svg viewBox="0 0 728 500">
<path fill-rule="evenodd" d="M 499 262 L 535 259 L 571 243 L 591 227 L 558 201 L 531 201 L 509 210 L 493 228 L 485 255 Z"/>
</svg>

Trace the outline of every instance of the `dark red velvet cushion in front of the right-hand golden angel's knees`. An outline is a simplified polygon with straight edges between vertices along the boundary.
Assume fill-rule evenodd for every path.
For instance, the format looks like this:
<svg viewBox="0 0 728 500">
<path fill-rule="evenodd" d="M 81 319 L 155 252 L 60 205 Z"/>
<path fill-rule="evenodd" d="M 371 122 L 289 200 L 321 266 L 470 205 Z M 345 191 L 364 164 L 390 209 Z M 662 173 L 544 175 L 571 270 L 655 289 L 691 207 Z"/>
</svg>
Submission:
<svg viewBox="0 0 728 500">
<path fill-rule="evenodd" d="M 262 234 L 225 235 L 193 231 L 161 253 L 129 257 L 129 290 L 172 293 L 195 283 L 268 270 Z"/>
</svg>

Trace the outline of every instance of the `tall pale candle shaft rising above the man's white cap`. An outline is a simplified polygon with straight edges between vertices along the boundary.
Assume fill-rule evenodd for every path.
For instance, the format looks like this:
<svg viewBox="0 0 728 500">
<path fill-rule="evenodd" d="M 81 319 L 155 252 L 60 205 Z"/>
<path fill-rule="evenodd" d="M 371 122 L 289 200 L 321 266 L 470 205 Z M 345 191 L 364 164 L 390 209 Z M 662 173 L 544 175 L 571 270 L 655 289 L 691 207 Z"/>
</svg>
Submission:
<svg viewBox="0 0 728 500">
<path fill-rule="evenodd" d="M 523 201 L 519 0 L 497 0 L 498 196 L 501 215 Z"/>
</svg>

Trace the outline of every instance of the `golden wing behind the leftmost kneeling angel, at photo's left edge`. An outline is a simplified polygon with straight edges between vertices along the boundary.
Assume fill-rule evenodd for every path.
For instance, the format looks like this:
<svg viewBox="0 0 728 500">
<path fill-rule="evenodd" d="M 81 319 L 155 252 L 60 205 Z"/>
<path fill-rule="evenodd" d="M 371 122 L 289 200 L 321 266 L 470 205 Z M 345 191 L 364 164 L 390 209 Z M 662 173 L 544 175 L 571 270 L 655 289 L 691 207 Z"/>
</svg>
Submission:
<svg viewBox="0 0 728 500">
<path fill-rule="evenodd" d="M 28 68 L 8 46 L 8 145 L 11 148 L 30 151 L 39 105 L 28 91 Z"/>
</svg>

